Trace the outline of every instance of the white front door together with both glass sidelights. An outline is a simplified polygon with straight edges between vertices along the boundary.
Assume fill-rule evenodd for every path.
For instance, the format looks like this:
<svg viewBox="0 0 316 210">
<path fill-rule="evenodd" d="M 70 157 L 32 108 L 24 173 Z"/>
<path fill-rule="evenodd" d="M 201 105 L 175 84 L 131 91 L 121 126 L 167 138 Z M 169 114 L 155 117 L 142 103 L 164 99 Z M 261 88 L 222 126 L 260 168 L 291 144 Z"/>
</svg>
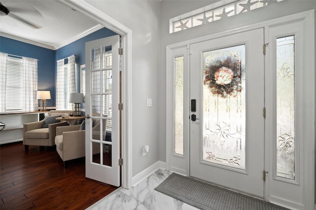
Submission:
<svg viewBox="0 0 316 210">
<path fill-rule="evenodd" d="M 290 209 L 315 208 L 315 110 L 306 104 L 315 100 L 310 20 L 313 11 L 167 46 L 167 72 L 174 72 L 167 76 L 167 170 Z M 179 93 L 182 104 L 168 101 Z M 290 103 L 280 103 L 288 93 Z M 180 115 L 176 105 L 182 124 L 168 117 Z"/>
</svg>

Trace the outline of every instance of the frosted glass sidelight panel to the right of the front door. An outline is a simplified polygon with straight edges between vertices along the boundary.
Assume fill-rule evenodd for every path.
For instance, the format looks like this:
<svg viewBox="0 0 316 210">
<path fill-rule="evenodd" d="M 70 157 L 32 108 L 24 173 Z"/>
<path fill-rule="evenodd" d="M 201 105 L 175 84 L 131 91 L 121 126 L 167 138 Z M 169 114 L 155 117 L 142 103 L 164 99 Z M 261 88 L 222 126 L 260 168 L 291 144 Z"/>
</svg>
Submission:
<svg viewBox="0 0 316 210">
<path fill-rule="evenodd" d="M 277 176 L 295 178 L 294 36 L 276 39 Z"/>
</svg>

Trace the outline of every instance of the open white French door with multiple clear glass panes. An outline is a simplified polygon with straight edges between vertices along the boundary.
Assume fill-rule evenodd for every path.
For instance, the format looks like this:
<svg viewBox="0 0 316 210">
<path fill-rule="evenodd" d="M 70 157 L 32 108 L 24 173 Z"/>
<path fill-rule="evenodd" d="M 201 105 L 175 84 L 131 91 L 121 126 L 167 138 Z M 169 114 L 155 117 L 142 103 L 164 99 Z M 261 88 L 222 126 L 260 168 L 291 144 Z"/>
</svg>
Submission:
<svg viewBox="0 0 316 210">
<path fill-rule="evenodd" d="M 114 186 L 119 173 L 119 35 L 86 42 L 85 176 Z"/>
</svg>

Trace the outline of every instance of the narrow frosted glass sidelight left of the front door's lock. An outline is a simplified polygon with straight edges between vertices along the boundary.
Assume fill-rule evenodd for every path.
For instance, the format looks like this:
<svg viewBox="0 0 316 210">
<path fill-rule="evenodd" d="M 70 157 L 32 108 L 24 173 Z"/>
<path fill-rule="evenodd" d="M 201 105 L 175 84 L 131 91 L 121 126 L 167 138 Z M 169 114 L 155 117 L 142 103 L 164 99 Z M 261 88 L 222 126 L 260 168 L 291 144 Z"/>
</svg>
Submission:
<svg viewBox="0 0 316 210">
<path fill-rule="evenodd" d="M 183 155 L 183 56 L 175 58 L 174 153 Z"/>
</svg>

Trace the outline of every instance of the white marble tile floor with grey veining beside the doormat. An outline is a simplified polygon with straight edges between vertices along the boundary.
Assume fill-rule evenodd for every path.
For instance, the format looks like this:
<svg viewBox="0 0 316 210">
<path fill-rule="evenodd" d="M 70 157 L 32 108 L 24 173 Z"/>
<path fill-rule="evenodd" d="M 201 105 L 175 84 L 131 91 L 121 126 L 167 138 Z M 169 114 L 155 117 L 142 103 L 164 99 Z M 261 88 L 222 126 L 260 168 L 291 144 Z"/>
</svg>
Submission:
<svg viewBox="0 0 316 210">
<path fill-rule="evenodd" d="M 170 174 L 159 169 L 135 187 L 121 188 L 87 210 L 198 210 L 155 190 Z"/>
</svg>

